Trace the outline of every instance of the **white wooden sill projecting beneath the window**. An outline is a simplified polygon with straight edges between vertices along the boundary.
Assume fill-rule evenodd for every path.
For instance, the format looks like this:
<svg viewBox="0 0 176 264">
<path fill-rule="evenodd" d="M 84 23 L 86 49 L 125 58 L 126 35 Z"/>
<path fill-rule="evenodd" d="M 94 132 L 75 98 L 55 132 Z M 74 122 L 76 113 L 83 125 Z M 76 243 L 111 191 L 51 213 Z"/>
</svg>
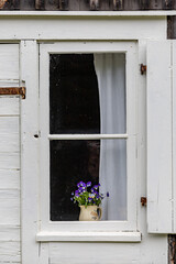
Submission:
<svg viewBox="0 0 176 264">
<path fill-rule="evenodd" d="M 141 242 L 140 232 L 46 232 L 36 234 L 37 242 Z"/>
</svg>

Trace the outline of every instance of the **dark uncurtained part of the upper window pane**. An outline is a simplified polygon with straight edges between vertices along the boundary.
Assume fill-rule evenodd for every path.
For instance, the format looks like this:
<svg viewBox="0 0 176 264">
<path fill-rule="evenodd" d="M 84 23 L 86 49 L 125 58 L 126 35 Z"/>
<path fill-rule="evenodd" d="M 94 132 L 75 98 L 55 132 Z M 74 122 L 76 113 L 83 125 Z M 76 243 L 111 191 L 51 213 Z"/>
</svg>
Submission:
<svg viewBox="0 0 176 264">
<path fill-rule="evenodd" d="M 54 134 L 100 133 L 92 54 L 50 55 L 50 130 Z"/>
</svg>

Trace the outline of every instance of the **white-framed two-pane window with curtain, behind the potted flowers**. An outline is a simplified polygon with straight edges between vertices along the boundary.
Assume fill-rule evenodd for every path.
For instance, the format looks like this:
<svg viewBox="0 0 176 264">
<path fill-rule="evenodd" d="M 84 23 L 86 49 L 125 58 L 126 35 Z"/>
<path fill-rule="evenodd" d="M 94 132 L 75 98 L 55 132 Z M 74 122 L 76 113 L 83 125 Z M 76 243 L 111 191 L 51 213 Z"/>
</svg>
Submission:
<svg viewBox="0 0 176 264">
<path fill-rule="evenodd" d="M 135 43 L 41 44 L 40 54 L 42 230 L 135 230 Z M 78 221 L 79 180 L 110 193 L 101 221 Z"/>
</svg>

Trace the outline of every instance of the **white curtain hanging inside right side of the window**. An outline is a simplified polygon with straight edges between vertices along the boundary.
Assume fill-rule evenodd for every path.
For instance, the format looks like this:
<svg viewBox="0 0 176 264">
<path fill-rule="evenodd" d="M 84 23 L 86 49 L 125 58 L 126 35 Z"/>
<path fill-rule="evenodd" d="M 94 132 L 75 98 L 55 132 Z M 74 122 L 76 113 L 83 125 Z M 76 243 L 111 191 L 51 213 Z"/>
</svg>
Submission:
<svg viewBox="0 0 176 264">
<path fill-rule="evenodd" d="M 95 54 L 102 134 L 125 133 L 125 54 Z M 127 220 L 125 140 L 101 140 L 102 220 Z"/>
</svg>

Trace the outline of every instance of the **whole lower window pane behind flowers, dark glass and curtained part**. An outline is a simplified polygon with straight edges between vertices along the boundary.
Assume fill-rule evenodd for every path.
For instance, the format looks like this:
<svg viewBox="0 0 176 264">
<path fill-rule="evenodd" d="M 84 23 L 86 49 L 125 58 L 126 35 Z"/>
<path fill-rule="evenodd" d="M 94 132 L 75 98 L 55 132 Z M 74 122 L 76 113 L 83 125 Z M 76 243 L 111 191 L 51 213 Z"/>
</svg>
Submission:
<svg viewBox="0 0 176 264">
<path fill-rule="evenodd" d="M 100 183 L 100 191 L 109 191 L 102 220 L 127 220 L 125 140 L 51 142 L 51 220 L 78 220 L 70 194 L 80 180 Z"/>
</svg>

